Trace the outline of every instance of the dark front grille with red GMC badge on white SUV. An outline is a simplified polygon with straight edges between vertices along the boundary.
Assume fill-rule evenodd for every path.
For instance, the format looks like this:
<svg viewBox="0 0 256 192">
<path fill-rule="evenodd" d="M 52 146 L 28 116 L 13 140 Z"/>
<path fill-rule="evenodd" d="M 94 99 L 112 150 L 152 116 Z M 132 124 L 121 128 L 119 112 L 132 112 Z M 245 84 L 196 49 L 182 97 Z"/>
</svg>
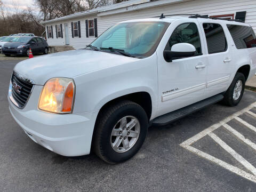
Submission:
<svg viewBox="0 0 256 192">
<path fill-rule="evenodd" d="M 22 80 L 17 73 L 12 74 L 12 97 L 18 103 L 18 107 L 25 106 L 30 92 L 33 88 L 33 84 Z"/>
</svg>

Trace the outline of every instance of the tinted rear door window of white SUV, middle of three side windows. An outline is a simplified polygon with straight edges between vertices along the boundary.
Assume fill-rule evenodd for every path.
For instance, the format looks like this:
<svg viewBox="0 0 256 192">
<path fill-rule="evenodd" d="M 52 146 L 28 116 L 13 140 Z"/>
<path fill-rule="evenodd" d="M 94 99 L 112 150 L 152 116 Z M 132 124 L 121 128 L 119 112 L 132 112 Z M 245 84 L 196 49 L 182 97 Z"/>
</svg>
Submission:
<svg viewBox="0 0 256 192">
<path fill-rule="evenodd" d="M 227 51 L 227 40 L 221 25 L 217 23 L 203 23 L 208 53 Z"/>
</svg>

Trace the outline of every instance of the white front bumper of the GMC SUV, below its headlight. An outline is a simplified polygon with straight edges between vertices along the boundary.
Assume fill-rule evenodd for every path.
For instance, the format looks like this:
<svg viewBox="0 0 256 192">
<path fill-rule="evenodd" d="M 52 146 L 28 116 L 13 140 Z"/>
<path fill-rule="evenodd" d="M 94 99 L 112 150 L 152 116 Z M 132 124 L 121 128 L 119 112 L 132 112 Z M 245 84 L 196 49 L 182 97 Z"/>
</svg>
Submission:
<svg viewBox="0 0 256 192">
<path fill-rule="evenodd" d="M 98 111 L 79 114 L 52 114 L 37 109 L 42 86 L 34 85 L 23 109 L 8 97 L 9 109 L 15 121 L 30 139 L 63 156 L 90 153 L 94 124 Z"/>
</svg>

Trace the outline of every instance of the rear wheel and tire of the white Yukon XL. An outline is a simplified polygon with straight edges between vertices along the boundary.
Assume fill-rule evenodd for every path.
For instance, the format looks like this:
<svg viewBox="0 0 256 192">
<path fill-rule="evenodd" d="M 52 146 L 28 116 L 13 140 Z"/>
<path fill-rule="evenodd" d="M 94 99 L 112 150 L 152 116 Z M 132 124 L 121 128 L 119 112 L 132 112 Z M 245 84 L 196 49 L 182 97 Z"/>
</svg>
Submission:
<svg viewBox="0 0 256 192">
<path fill-rule="evenodd" d="M 239 84 L 238 82 L 240 82 L 242 84 L 240 93 L 238 91 L 239 89 L 236 88 L 236 85 Z M 222 103 L 227 105 L 227 106 L 231 106 L 231 107 L 236 106 L 241 101 L 241 99 L 243 97 L 244 86 L 245 86 L 245 77 L 244 77 L 244 75 L 242 73 L 236 73 L 236 75 L 233 79 L 233 82 L 231 83 L 228 90 L 224 94 L 224 99 L 222 100 Z M 236 97 L 234 96 L 234 92 L 237 93 L 237 94 L 235 94 Z"/>
</svg>

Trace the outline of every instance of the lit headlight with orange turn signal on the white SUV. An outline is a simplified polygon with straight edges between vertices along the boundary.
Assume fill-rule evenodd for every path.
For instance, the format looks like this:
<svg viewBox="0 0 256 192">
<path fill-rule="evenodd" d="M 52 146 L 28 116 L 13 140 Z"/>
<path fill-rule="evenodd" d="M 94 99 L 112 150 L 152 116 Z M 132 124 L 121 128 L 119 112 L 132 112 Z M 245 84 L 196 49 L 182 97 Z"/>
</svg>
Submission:
<svg viewBox="0 0 256 192">
<path fill-rule="evenodd" d="M 52 113 L 71 113 L 74 95 L 73 79 L 63 77 L 49 79 L 41 92 L 38 108 Z"/>
</svg>

